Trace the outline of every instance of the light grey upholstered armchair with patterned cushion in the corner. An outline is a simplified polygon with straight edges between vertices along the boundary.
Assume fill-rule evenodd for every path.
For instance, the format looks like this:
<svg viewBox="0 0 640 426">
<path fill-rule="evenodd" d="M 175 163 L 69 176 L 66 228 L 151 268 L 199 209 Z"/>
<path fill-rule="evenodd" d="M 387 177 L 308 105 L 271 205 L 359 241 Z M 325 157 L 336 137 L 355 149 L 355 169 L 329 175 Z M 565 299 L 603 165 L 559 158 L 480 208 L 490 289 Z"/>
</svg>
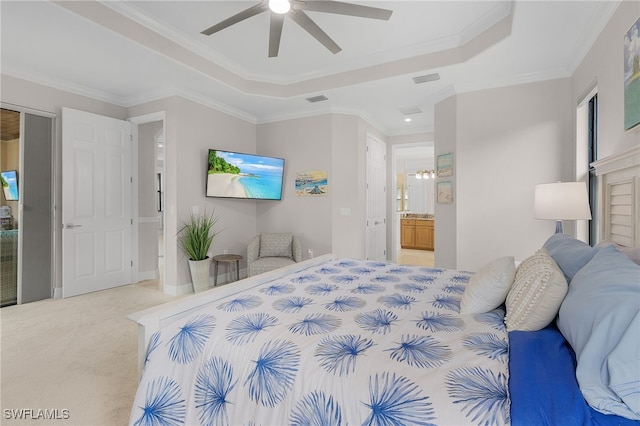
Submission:
<svg viewBox="0 0 640 426">
<path fill-rule="evenodd" d="M 302 246 L 291 233 L 262 233 L 247 246 L 248 276 L 262 274 L 302 260 Z"/>
</svg>

